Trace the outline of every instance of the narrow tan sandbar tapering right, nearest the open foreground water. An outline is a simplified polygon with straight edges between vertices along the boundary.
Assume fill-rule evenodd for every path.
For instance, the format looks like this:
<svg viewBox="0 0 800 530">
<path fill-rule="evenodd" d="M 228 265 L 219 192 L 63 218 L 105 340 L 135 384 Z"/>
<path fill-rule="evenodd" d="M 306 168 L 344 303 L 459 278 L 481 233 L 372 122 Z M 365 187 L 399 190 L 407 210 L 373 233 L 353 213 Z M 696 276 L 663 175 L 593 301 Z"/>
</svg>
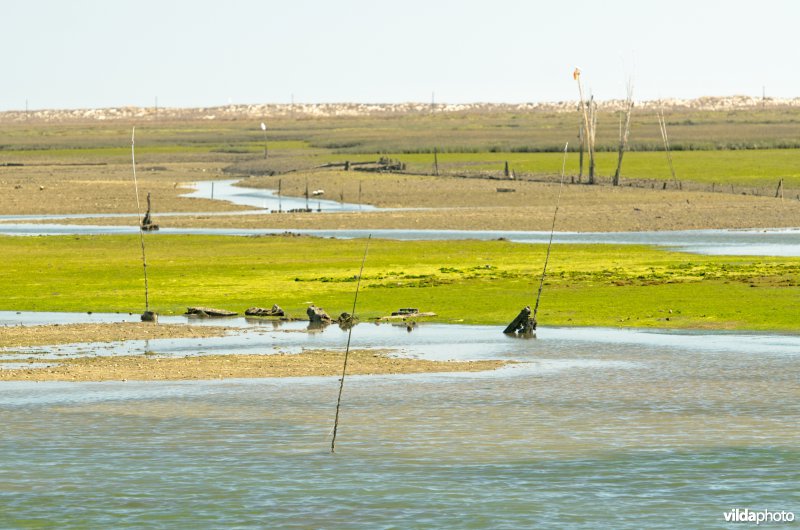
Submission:
<svg viewBox="0 0 800 530">
<path fill-rule="evenodd" d="M 81 357 L 48 366 L 7 370 L 0 381 L 164 381 L 264 377 L 335 376 L 342 371 L 343 352 L 326 350 L 300 354 L 204 355 L 161 357 Z M 35 362 L 35 361 L 33 361 Z M 494 370 L 505 361 L 423 361 L 390 357 L 387 352 L 350 352 L 347 373 L 416 374 Z"/>
</svg>

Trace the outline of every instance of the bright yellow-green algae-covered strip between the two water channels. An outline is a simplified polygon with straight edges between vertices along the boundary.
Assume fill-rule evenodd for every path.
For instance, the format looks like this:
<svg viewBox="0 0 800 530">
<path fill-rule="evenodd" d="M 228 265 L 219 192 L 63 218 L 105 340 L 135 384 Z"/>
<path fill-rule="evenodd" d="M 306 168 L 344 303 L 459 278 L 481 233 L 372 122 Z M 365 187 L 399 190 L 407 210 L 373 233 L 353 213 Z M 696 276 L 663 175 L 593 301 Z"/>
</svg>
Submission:
<svg viewBox="0 0 800 530">
<path fill-rule="evenodd" d="M 363 241 L 147 235 L 151 308 L 242 312 L 277 303 L 304 317 L 352 304 Z M 138 236 L 0 237 L 0 309 L 141 312 Z M 401 307 L 442 322 L 502 325 L 533 303 L 543 245 L 374 241 L 362 318 Z M 797 331 L 800 258 L 697 256 L 627 245 L 557 245 L 539 320 L 598 325 Z"/>
</svg>

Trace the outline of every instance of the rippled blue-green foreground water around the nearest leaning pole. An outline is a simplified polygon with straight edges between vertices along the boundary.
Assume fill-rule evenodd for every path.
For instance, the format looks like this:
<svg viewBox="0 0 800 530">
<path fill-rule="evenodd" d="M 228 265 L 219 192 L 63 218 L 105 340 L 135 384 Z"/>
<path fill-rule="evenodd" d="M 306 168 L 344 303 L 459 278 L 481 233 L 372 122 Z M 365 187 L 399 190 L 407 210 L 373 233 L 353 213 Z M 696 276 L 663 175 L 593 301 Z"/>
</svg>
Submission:
<svg viewBox="0 0 800 530">
<path fill-rule="evenodd" d="M 386 342 L 531 363 L 348 377 L 333 455 L 335 377 L 0 384 L 0 527 L 721 528 L 735 507 L 800 511 L 800 337 L 354 330 Z"/>
</svg>

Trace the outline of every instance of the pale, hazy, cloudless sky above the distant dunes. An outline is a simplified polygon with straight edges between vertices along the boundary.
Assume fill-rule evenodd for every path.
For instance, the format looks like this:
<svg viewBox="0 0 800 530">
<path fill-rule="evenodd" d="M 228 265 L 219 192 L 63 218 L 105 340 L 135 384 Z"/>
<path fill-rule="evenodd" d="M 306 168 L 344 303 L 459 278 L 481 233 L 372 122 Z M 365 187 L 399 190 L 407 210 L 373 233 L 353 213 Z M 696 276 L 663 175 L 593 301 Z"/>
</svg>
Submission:
<svg viewBox="0 0 800 530">
<path fill-rule="evenodd" d="M 800 96 L 796 0 L 3 0 L 0 110 Z"/>
</svg>

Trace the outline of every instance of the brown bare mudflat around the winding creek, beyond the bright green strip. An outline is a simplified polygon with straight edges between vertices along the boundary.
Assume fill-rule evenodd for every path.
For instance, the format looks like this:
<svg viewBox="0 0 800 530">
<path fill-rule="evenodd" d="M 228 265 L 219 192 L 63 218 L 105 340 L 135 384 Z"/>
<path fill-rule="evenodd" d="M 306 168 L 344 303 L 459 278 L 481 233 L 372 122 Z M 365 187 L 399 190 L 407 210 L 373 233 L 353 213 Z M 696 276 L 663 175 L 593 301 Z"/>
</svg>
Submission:
<svg viewBox="0 0 800 530">
<path fill-rule="evenodd" d="M 325 187 L 328 198 L 338 199 L 343 195 L 346 201 L 356 200 L 361 177 L 352 173 L 328 172 L 317 173 L 315 178 L 318 181 L 312 178 L 312 186 Z M 305 179 L 300 175 L 282 176 L 284 194 L 301 196 Z M 164 177 L 159 177 L 154 184 L 154 220 L 162 227 L 173 228 L 549 230 L 559 189 L 558 184 L 548 182 L 376 175 L 361 183 L 362 202 L 394 210 L 230 216 L 187 213 L 185 216 L 159 217 L 159 211 L 219 213 L 243 211 L 245 208 L 224 201 L 180 197 L 180 193 L 187 190 L 185 186 L 188 183 L 185 182 L 173 186 L 171 182 L 164 182 Z M 242 185 L 272 189 L 277 187 L 277 177 L 246 179 Z M 39 190 L 38 186 L 26 184 L 9 192 L 10 197 L 0 199 L 0 212 L 119 212 L 120 204 L 127 201 L 130 206 L 131 203 L 131 198 L 125 196 L 126 193 L 130 195 L 128 182 L 101 184 L 100 188 L 96 188 L 98 182 L 93 180 L 84 184 L 73 181 L 67 187 L 69 189 L 50 189 L 50 186 L 47 184 L 44 190 Z M 498 188 L 515 191 L 498 192 Z M 103 194 L 102 200 L 108 204 L 96 203 L 98 205 L 92 207 L 92 201 L 100 200 L 92 198 L 95 193 Z M 78 198 L 84 194 L 88 199 Z M 135 211 L 135 207 L 127 210 Z M 253 209 L 249 210 L 252 212 Z M 135 218 L 87 218 L 64 222 L 136 224 Z M 562 190 L 556 229 L 606 232 L 796 226 L 800 226 L 800 201 L 796 199 L 570 184 Z"/>
</svg>

